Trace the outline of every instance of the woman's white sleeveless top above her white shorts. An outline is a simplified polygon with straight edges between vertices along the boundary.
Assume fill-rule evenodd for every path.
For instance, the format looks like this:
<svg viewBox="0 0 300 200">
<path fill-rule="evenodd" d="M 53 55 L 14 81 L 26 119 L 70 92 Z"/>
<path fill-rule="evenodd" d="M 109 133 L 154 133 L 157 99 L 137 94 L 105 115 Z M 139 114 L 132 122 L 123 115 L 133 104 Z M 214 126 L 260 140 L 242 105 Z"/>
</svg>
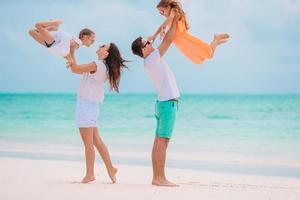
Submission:
<svg viewBox="0 0 300 200">
<path fill-rule="evenodd" d="M 93 74 L 86 72 L 82 75 L 77 98 L 101 103 L 104 100 L 104 83 L 108 79 L 108 72 L 102 60 L 95 61 L 97 71 Z"/>
</svg>

